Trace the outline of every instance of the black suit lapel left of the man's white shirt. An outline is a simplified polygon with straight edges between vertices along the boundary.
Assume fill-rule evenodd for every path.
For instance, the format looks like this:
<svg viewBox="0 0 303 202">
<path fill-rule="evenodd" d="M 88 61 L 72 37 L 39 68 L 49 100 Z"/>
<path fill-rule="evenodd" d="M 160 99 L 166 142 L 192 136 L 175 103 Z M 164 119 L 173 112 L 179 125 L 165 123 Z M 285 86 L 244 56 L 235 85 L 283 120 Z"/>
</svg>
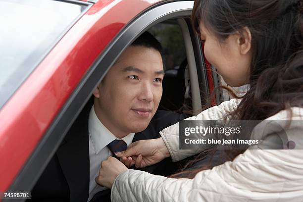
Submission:
<svg viewBox="0 0 303 202">
<path fill-rule="evenodd" d="M 71 202 L 84 202 L 89 196 L 90 156 L 88 114 L 80 114 L 57 150 Z"/>
</svg>

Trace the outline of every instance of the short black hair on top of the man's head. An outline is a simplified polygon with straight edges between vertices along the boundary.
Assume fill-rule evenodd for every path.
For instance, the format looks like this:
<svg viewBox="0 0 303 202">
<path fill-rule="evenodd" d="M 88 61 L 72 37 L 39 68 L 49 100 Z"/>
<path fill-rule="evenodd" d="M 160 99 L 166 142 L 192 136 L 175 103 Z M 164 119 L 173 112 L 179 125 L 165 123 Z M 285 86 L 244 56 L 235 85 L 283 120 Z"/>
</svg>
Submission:
<svg viewBox="0 0 303 202">
<path fill-rule="evenodd" d="M 149 32 L 141 34 L 131 46 L 142 46 L 146 48 L 152 48 L 159 51 L 162 54 L 162 46 L 160 42 Z"/>
</svg>

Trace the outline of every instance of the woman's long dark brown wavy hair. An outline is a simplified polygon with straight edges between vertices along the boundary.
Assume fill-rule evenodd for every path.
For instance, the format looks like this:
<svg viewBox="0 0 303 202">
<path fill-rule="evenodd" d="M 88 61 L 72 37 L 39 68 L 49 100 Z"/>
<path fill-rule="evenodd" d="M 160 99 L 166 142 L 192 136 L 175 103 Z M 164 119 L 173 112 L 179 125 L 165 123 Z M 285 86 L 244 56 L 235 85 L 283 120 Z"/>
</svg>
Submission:
<svg viewBox="0 0 303 202">
<path fill-rule="evenodd" d="M 250 89 L 232 119 L 263 120 L 303 105 L 303 0 L 195 0 L 192 23 L 198 34 L 200 21 L 220 42 L 245 27 L 252 35 Z M 244 151 L 222 152 L 227 161 Z M 193 178 L 215 165 L 209 163 L 173 177 Z"/>
</svg>

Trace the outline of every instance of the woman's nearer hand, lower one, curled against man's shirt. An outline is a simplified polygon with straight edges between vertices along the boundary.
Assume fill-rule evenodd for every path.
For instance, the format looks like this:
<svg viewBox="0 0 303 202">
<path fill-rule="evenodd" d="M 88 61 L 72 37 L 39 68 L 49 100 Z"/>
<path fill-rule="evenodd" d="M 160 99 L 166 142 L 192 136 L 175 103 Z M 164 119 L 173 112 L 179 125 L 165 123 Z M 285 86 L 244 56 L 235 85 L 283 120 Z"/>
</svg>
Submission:
<svg viewBox="0 0 303 202">
<path fill-rule="evenodd" d="M 101 163 L 98 177 L 95 178 L 97 184 L 111 189 L 116 177 L 128 170 L 127 167 L 121 163 L 118 159 L 109 156 Z"/>
</svg>

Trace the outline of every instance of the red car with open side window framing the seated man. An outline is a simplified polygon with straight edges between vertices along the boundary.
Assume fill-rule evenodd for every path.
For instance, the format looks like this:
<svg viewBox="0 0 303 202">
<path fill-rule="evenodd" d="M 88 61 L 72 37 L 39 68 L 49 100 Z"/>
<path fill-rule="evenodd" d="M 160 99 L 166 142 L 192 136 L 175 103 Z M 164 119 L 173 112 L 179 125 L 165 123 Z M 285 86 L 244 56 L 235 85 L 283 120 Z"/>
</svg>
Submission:
<svg viewBox="0 0 303 202">
<path fill-rule="evenodd" d="M 160 108 L 201 109 L 220 79 L 205 65 L 193 4 L 0 0 L 0 192 L 33 188 L 94 88 L 146 30 L 165 50 Z"/>
</svg>

